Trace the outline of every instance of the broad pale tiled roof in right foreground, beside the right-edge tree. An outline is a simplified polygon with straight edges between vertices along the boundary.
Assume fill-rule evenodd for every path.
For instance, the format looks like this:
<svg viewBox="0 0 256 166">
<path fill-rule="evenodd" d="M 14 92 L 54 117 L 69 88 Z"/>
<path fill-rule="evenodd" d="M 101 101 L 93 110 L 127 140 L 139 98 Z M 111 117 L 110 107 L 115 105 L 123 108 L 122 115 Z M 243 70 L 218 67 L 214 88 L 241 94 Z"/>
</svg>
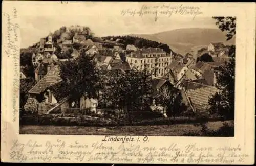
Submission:
<svg viewBox="0 0 256 166">
<path fill-rule="evenodd" d="M 209 108 L 209 97 L 214 95 L 219 90 L 214 86 L 206 86 L 184 91 L 186 93 L 187 100 L 191 102 L 194 110 L 197 113 L 204 113 L 207 112 Z"/>
</svg>

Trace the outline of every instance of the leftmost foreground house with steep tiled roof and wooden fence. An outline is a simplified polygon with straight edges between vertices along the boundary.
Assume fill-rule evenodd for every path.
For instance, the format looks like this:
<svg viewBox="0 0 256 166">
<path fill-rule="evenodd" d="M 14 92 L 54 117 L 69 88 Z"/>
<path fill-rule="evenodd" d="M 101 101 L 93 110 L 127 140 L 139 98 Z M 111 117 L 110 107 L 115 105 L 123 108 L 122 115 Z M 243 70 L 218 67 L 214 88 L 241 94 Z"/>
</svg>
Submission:
<svg viewBox="0 0 256 166">
<path fill-rule="evenodd" d="M 58 110 L 62 113 L 81 111 L 86 107 L 94 110 L 97 100 L 72 97 L 69 92 L 70 88 L 60 77 L 60 65 L 55 65 L 29 90 L 29 97 L 24 106 L 25 111 L 38 111 L 38 114 L 46 114 Z"/>
</svg>

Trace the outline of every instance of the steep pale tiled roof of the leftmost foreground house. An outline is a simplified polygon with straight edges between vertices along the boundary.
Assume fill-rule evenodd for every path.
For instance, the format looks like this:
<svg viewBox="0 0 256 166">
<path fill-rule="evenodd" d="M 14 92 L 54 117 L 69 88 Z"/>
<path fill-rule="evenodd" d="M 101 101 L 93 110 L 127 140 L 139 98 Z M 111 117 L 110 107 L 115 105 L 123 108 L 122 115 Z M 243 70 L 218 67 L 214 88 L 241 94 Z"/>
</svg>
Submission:
<svg viewBox="0 0 256 166">
<path fill-rule="evenodd" d="M 62 81 L 60 77 L 60 66 L 55 65 L 41 80 L 35 84 L 30 90 L 29 93 L 40 94 L 48 86 L 51 86 L 55 83 Z"/>
</svg>

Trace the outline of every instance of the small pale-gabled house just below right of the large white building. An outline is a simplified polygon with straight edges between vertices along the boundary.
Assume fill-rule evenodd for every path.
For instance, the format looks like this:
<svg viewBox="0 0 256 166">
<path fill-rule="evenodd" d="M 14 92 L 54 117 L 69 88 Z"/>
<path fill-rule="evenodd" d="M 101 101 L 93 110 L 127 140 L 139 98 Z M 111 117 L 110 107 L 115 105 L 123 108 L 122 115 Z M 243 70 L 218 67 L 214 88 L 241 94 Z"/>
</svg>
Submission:
<svg viewBox="0 0 256 166">
<path fill-rule="evenodd" d="M 173 61 L 168 67 L 168 79 L 174 85 L 185 74 L 188 68 L 178 61 Z"/>
</svg>

